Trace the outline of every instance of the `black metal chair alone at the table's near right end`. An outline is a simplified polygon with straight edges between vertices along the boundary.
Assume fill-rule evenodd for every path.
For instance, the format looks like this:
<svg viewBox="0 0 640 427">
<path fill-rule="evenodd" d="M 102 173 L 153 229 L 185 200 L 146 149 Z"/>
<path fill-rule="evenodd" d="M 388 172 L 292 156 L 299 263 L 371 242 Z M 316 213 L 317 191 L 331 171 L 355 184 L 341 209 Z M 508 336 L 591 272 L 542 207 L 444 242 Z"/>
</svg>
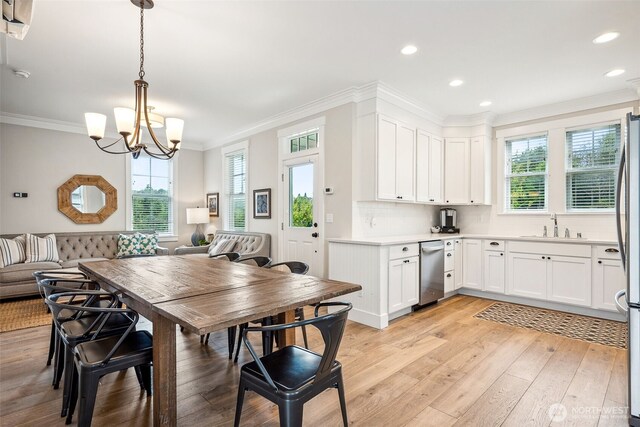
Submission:
<svg viewBox="0 0 640 427">
<path fill-rule="evenodd" d="M 320 307 L 341 306 L 335 313 L 318 316 Z M 342 365 L 336 360 L 340 341 L 347 322 L 350 303 L 330 302 L 318 304 L 313 319 L 274 326 L 250 327 L 244 330 L 242 340 L 254 361 L 242 366 L 238 384 L 238 400 L 234 426 L 240 424 L 244 394 L 255 391 L 278 405 L 281 426 L 302 426 L 305 402 L 328 388 L 337 388 L 342 411 L 342 422 L 348 425 L 347 406 L 344 397 Z M 251 332 L 277 332 L 285 329 L 313 325 L 322 334 L 322 355 L 290 345 L 267 356 L 258 357 L 247 334 Z"/>
</svg>

